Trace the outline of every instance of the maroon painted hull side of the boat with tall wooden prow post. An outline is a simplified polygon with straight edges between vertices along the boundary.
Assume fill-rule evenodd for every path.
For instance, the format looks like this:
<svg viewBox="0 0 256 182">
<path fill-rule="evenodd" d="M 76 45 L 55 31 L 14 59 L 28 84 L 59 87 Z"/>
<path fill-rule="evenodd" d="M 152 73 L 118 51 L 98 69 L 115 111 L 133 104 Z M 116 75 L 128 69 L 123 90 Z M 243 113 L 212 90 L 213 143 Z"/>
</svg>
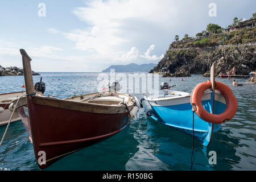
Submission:
<svg viewBox="0 0 256 182">
<path fill-rule="evenodd" d="M 61 109 L 34 104 L 32 99 L 28 100 L 28 108 L 25 111 L 21 106 L 17 111 L 30 134 L 36 162 L 41 169 L 71 152 L 118 133 L 130 122 L 127 113 L 101 114 Z M 46 164 L 39 164 L 42 161 L 40 151 L 46 154 Z"/>
</svg>

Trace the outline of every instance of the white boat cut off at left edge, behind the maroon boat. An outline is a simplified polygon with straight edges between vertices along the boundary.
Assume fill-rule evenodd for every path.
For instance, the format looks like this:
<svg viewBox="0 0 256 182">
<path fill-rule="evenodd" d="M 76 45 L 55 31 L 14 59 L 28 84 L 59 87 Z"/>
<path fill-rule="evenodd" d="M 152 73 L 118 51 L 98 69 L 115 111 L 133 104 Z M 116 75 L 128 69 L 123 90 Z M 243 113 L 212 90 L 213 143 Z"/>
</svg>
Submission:
<svg viewBox="0 0 256 182">
<path fill-rule="evenodd" d="M 22 96 L 24 92 L 2 93 L 0 94 L 0 126 L 7 125 L 12 111 L 9 110 L 11 102 Z M 11 109 L 11 108 L 10 108 Z M 19 114 L 15 111 L 11 122 L 19 121 Z"/>
</svg>

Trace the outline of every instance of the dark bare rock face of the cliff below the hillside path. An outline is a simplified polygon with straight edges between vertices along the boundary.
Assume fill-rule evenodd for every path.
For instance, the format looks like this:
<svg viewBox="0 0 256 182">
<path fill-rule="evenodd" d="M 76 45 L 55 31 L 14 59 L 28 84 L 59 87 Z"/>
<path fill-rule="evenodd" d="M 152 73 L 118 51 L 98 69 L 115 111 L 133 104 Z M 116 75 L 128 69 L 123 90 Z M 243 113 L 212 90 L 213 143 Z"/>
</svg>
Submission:
<svg viewBox="0 0 256 182">
<path fill-rule="evenodd" d="M 236 67 L 237 75 L 248 75 L 256 69 L 256 46 L 230 46 L 216 48 L 197 48 L 168 50 L 164 58 L 150 71 L 161 72 L 167 68 L 171 74 L 166 76 L 190 76 L 210 71 L 213 62 L 216 73 L 226 73 Z"/>
</svg>

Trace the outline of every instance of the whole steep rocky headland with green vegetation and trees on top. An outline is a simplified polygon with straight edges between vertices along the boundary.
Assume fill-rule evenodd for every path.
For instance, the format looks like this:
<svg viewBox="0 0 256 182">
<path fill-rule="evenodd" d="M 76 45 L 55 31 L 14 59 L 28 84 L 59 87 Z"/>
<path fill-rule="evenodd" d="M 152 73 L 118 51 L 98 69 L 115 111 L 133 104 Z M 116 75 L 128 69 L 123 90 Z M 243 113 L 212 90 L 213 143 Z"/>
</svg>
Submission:
<svg viewBox="0 0 256 182">
<path fill-rule="evenodd" d="M 216 74 L 229 74 L 235 68 L 236 75 L 248 75 L 256 70 L 255 25 L 256 13 L 249 20 L 235 17 L 227 28 L 210 23 L 196 38 L 185 34 L 179 40 L 175 35 L 175 41 L 150 73 L 160 72 L 163 77 L 209 76 L 210 66 L 215 63 Z"/>
</svg>

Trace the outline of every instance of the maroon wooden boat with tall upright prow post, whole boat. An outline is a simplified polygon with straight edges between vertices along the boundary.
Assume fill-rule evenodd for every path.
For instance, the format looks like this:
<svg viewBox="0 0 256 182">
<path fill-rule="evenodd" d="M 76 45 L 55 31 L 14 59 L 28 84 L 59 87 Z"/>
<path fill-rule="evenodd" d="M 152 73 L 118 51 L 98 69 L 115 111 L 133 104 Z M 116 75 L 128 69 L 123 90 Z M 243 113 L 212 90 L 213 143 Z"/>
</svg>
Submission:
<svg viewBox="0 0 256 182">
<path fill-rule="evenodd" d="M 131 96 L 112 90 L 66 99 L 35 93 L 31 59 L 23 49 L 20 53 L 27 97 L 21 98 L 16 107 L 41 169 L 125 129 L 129 117 L 138 111 Z"/>
</svg>

